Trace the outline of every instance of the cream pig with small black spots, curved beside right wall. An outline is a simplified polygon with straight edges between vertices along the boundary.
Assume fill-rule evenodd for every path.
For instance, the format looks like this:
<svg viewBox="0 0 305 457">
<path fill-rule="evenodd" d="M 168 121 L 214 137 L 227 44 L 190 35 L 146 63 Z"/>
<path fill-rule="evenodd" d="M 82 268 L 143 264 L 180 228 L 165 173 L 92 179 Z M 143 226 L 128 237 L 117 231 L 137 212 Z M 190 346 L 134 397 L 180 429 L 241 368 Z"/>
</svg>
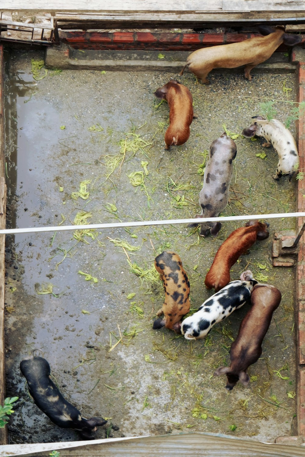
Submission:
<svg viewBox="0 0 305 457">
<path fill-rule="evenodd" d="M 289 175 L 289 181 L 299 165 L 298 149 L 294 137 L 289 130 L 277 119 L 270 121 L 262 116 L 254 116 L 254 124 L 244 128 L 241 134 L 246 138 L 257 137 L 266 138 L 266 143 L 262 146 L 269 148 L 273 145 L 274 150 L 278 153 L 278 166 L 274 179 L 279 179 L 282 175 Z"/>
</svg>

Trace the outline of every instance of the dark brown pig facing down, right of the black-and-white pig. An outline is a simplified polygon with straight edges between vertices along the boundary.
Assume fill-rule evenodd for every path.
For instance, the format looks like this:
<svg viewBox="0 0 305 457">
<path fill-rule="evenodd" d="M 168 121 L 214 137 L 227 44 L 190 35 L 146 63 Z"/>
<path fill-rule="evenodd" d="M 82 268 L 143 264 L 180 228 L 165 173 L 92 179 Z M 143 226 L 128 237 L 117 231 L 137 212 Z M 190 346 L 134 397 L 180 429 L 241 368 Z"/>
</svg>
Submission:
<svg viewBox="0 0 305 457">
<path fill-rule="evenodd" d="M 268 284 L 257 284 L 251 293 L 252 306 L 247 312 L 230 349 L 230 367 L 219 367 L 214 376 L 227 375 L 225 388 L 232 390 L 237 381 L 249 384 L 246 370 L 262 354 L 262 341 L 268 331 L 273 312 L 281 302 L 281 292 Z"/>
</svg>

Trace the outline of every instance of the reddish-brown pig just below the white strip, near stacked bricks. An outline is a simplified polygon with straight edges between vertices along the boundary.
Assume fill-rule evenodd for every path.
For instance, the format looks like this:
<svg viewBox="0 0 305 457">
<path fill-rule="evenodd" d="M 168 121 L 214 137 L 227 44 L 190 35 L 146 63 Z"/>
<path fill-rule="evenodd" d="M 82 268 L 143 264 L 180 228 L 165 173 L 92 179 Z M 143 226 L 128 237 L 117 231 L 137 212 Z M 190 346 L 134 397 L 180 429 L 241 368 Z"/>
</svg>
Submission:
<svg viewBox="0 0 305 457">
<path fill-rule="evenodd" d="M 266 239 L 269 236 L 268 222 L 261 223 L 252 220 L 244 227 L 237 228 L 224 241 L 216 252 L 211 268 L 205 276 L 204 284 L 208 289 L 214 287 L 218 292 L 230 282 L 230 268 L 236 260 L 245 254 L 252 244 L 258 239 Z"/>
</svg>

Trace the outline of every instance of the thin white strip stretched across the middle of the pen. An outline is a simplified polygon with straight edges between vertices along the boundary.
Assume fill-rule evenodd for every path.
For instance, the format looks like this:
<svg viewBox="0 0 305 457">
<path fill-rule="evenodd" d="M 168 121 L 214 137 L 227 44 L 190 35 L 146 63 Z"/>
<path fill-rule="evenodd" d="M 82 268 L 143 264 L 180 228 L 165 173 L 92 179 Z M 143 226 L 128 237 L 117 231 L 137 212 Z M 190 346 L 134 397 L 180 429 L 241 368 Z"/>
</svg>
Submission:
<svg viewBox="0 0 305 457">
<path fill-rule="evenodd" d="M 0 230 L 0 235 L 38 233 L 38 232 L 61 232 L 67 230 L 86 230 L 88 228 L 119 228 L 119 227 L 140 227 L 143 225 L 168 225 L 168 224 L 189 224 L 204 222 L 229 222 L 245 221 L 252 219 L 275 219 L 275 218 L 301 218 L 305 213 L 278 213 L 278 214 L 255 214 L 252 216 L 225 216 L 218 218 L 195 218 L 195 219 L 166 219 L 157 221 L 136 221 L 136 222 L 114 222 L 87 225 L 58 225 L 54 227 L 27 227 L 27 228 L 8 228 Z"/>
</svg>

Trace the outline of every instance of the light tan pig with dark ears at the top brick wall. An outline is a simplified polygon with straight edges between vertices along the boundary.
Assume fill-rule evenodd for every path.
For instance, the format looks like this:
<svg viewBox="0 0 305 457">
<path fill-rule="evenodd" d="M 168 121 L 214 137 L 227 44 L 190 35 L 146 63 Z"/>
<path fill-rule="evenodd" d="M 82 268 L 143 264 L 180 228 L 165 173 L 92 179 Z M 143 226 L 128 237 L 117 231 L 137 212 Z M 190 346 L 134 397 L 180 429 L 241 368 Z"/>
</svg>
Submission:
<svg viewBox="0 0 305 457">
<path fill-rule="evenodd" d="M 204 84 L 209 84 L 207 76 L 212 69 L 246 65 L 245 78 L 251 81 L 251 69 L 267 60 L 280 44 L 294 46 L 302 41 L 300 35 L 289 35 L 282 27 L 273 29 L 267 25 L 260 25 L 257 28 L 263 37 L 257 36 L 240 43 L 197 49 L 188 56 L 187 63 L 179 73 L 180 76 L 188 67 Z"/>
</svg>

